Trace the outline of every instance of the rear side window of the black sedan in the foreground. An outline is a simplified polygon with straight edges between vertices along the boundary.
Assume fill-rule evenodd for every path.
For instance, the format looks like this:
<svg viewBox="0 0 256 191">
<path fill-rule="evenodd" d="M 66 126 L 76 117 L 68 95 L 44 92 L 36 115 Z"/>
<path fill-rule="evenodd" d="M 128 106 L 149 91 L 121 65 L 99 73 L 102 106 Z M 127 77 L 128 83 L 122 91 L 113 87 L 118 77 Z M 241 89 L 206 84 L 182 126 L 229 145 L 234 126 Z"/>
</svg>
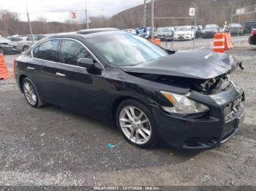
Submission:
<svg viewBox="0 0 256 191">
<path fill-rule="evenodd" d="M 58 62 L 58 46 L 58 39 L 44 42 L 34 49 L 34 58 Z"/>
</svg>

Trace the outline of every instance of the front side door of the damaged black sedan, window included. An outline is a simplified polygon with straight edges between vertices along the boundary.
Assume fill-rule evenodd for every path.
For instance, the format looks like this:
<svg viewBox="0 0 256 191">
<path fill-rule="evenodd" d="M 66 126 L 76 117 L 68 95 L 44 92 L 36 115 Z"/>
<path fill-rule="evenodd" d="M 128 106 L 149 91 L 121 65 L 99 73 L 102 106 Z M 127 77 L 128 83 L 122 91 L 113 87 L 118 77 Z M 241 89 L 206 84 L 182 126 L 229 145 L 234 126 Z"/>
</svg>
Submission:
<svg viewBox="0 0 256 191">
<path fill-rule="evenodd" d="M 77 66 L 78 58 L 92 58 L 86 47 L 75 39 L 62 39 L 56 75 L 61 106 L 91 114 L 97 108 L 102 71 Z"/>
</svg>

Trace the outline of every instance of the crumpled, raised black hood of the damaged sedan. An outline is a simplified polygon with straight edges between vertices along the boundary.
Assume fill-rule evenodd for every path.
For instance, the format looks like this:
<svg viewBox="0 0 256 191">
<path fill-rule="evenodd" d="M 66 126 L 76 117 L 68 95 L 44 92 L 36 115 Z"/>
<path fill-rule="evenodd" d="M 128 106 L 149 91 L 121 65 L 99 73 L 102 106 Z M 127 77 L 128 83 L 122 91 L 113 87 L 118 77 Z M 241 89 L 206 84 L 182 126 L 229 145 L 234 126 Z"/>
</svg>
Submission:
<svg viewBox="0 0 256 191">
<path fill-rule="evenodd" d="M 225 53 L 210 50 L 181 51 L 137 66 L 123 66 L 121 69 L 128 73 L 211 79 L 232 70 L 232 60 Z"/>
</svg>

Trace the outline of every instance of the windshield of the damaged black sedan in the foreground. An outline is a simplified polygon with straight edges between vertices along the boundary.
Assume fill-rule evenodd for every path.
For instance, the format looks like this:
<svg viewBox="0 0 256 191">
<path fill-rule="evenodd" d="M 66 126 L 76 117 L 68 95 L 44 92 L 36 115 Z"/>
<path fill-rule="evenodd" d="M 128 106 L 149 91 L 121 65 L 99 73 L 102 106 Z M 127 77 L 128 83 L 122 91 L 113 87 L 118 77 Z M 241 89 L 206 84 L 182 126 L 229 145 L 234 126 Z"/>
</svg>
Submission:
<svg viewBox="0 0 256 191">
<path fill-rule="evenodd" d="M 135 66 L 168 55 L 156 44 L 128 33 L 104 34 L 86 40 L 116 66 Z"/>
</svg>

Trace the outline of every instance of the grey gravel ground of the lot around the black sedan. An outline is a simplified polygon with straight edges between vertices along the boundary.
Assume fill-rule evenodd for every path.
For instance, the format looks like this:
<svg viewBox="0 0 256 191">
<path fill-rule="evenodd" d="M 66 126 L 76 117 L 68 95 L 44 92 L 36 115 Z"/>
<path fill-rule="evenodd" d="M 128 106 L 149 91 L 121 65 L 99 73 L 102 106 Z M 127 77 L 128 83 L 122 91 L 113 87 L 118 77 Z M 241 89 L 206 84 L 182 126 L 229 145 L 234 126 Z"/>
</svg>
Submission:
<svg viewBox="0 0 256 191">
<path fill-rule="evenodd" d="M 114 126 L 54 106 L 32 108 L 14 79 L 1 80 L 0 185 L 256 186 L 255 52 L 246 43 L 230 51 L 245 67 L 232 77 L 246 91 L 246 119 L 233 139 L 204 152 L 133 147 Z M 15 57 L 5 56 L 11 72 Z"/>
</svg>

